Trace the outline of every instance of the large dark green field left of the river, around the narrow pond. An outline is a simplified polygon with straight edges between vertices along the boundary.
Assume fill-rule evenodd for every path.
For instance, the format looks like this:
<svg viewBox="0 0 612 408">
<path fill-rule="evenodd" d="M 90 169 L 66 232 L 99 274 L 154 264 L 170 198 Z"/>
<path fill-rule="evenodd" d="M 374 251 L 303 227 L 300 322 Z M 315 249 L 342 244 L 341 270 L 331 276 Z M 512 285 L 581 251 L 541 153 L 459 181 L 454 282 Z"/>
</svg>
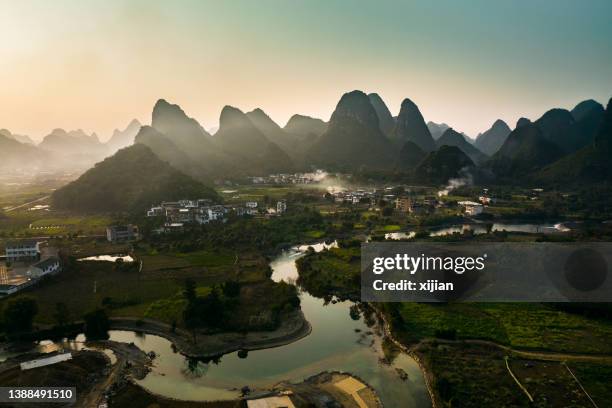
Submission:
<svg viewBox="0 0 612 408">
<path fill-rule="evenodd" d="M 78 256 L 126 253 L 128 249 L 94 240 L 61 242 L 65 251 Z M 196 282 L 199 296 L 206 295 L 213 285 L 235 280 L 241 282 L 242 289 L 234 302 L 235 313 L 228 321 L 232 326 L 248 328 L 253 319 L 274 322 L 278 308 L 292 295 L 286 285 L 269 280 L 267 260 L 257 252 L 201 250 L 159 254 L 141 244 L 135 256 L 136 263 L 123 265 L 70 261 L 62 273 L 25 290 L 23 293 L 38 303 L 36 322 L 55 324 L 56 305 L 64 303 L 70 311 L 69 321 L 79 320 L 83 313 L 105 305 L 111 316 L 148 317 L 181 325 L 186 279 Z M 143 267 L 139 272 L 140 261 Z"/>
</svg>

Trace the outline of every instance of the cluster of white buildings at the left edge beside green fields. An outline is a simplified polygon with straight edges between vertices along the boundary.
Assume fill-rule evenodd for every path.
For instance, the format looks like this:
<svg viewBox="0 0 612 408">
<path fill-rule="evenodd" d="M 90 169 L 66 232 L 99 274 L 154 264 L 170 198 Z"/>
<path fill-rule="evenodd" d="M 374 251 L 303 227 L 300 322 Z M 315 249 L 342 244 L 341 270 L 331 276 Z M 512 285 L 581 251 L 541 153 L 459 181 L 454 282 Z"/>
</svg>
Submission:
<svg viewBox="0 0 612 408">
<path fill-rule="evenodd" d="M 9 241 L 5 245 L 4 262 L 0 262 L 0 296 L 7 296 L 34 285 L 45 276 L 61 271 L 57 256 L 50 248 L 41 253 L 37 240 Z"/>
</svg>

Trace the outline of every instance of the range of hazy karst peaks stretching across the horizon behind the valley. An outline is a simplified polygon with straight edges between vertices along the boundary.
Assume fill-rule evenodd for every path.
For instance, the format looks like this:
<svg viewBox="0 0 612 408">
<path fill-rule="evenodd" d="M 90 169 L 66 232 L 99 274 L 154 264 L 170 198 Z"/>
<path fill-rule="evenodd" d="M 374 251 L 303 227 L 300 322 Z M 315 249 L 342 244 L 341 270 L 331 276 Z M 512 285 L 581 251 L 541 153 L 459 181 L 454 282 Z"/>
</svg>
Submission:
<svg viewBox="0 0 612 408">
<path fill-rule="evenodd" d="M 589 162 L 603 163 L 609 157 L 601 136 L 608 110 L 586 100 L 572 110 L 552 108 L 533 122 L 521 118 L 514 129 L 496 120 L 472 141 L 449 125 L 425 122 L 409 98 L 393 117 L 380 95 L 355 90 L 342 95 L 329 122 L 296 114 L 281 127 L 262 108 L 245 113 L 225 106 L 211 135 L 178 104 L 159 99 L 150 125 L 134 119 L 106 143 L 95 133 L 54 129 L 35 145 L 27 136 L 3 129 L 0 168 L 21 168 L 27 162 L 32 168 L 85 170 L 119 149 L 141 144 L 206 183 L 313 168 L 404 172 L 438 180 L 435 173 L 452 177 L 459 170 L 453 163 L 488 169 L 500 181 L 552 183 L 561 175 L 598 179 L 593 170 L 597 165 Z"/>
</svg>

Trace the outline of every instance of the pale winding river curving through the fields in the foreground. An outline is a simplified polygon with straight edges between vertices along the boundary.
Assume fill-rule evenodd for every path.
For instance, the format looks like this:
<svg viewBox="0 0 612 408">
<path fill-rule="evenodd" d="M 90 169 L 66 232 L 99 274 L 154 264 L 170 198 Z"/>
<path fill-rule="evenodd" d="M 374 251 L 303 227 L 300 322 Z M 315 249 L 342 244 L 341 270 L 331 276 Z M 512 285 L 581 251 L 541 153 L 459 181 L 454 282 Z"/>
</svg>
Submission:
<svg viewBox="0 0 612 408">
<path fill-rule="evenodd" d="M 330 246 L 312 245 L 316 251 Z M 274 258 L 270 266 L 274 281 L 294 284 L 298 271 L 295 261 L 308 246 L 297 246 Z M 133 342 L 156 357 L 151 372 L 138 383 L 152 393 L 181 400 L 227 400 L 240 396 L 240 389 L 265 390 L 281 381 L 299 382 L 323 371 L 354 374 L 372 386 L 385 407 L 430 407 L 423 373 L 407 354 L 393 362 L 383 362 L 380 328 L 368 327 L 363 317 L 349 313 L 349 301 L 325 303 L 306 291 L 300 292 L 301 308 L 312 332 L 293 343 L 249 351 L 246 358 L 237 352 L 223 355 L 216 362 L 188 359 L 163 337 L 133 331 L 110 331 L 110 339 Z M 35 351 L 48 352 L 62 347 L 78 350 L 85 338 L 61 343 L 40 342 Z M 10 357 L 8 355 L 4 358 Z M 407 377 L 402 379 L 399 372 Z"/>
</svg>

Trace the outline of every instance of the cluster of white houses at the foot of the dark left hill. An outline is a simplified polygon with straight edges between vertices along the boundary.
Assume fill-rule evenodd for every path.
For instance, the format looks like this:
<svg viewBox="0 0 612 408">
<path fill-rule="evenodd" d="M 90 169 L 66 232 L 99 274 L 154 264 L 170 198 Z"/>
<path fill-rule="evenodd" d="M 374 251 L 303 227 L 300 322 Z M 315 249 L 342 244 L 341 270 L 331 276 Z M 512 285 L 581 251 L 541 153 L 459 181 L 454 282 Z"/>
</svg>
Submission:
<svg viewBox="0 0 612 408">
<path fill-rule="evenodd" d="M 257 201 L 247 201 L 244 205 L 213 204 L 208 199 L 164 201 L 147 210 L 147 217 L 162 217 L 165 223 L 157 232 L 181 229 L 185 224 L 208 224 L 225 222 L 230 213 L 236 216 L 280 215 L 287 211 L 287 202 L 280 200 L 274 208 L 260 208 Z"/>
</svg>

